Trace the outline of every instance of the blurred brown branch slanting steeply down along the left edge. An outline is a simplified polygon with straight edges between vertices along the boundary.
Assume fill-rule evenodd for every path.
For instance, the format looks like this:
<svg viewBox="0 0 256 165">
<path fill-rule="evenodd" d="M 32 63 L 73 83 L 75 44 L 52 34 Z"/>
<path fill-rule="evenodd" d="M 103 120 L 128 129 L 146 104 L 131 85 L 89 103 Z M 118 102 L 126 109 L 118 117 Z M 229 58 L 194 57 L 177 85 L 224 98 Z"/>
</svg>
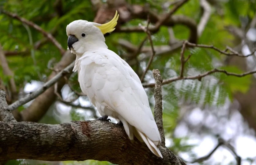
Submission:
<svg viewBox="0 0 256 165">
<path fill-rule="evenodd" d="M 0 44 L 0 61 L 1 61 L 1 65 L 3 68 L 3 72 L 5 75 L 7 76 L 11 76 L 10 77 L 10 88 L 11 88 L 11 93 L 12 93 L 12 97 L 14 96 L 14 99 L 17 99 L 17 88 L 14 82 L 14 78 L 13 78 L 13 72 L 12 70 L 9 68 L 8 62 L 6 60 L 5 54 L 2 50 L 2 45 Z"/>
</svg>

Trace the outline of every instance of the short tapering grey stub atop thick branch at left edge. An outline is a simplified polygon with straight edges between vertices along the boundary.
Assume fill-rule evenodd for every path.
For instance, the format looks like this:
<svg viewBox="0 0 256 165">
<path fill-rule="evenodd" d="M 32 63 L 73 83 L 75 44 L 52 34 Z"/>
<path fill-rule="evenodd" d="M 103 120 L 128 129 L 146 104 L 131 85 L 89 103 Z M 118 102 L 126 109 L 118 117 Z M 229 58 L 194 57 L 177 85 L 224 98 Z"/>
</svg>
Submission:
<svg viewBox="0 0 256 165">
<path fill-rule="evenodd" d="M 0 118 L 5 122 L 16 122 L 10 108 L 7 105 L 6 93 L 3 89 L 0 89 Z"/>
</svg>

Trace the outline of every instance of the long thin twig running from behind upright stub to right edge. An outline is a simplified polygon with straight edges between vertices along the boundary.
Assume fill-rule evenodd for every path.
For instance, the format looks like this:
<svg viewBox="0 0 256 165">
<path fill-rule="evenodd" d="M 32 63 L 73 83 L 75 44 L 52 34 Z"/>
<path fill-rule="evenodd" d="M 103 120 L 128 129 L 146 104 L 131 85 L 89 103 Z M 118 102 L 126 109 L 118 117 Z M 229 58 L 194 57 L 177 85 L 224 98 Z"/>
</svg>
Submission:
<svg viewBox="0 0 256 165">
<path fill-rule="evenodd" d="M 226 75 L 231 75 L 231 76 L 236 76 L 236 77 L 244 77 L 244 76 L 247 76 L 247 75 L 252 75 L 254 73 L 256 73 L 256 71 L 247 71 L 247 72 L 244 72 L 242 74 L 237 74 L 237 73 L 232 73 L 232 72 L 228 72 L 226 70 L 222 70 L 222 69 L 213 69 L 213 70 L 210 70 L 210 71 L 207 71 L 203 74 L 200 74 L 200 75 L 196 75 L 196 76 L 187 76 L 187 77 L 175 77 L 175 78 L 170 78 L 170 79 L 165 79 L 163 80 L 162 82 L 162 85 L 165 85 L 165 84 L 169 84 L 171 82 L 174 82 L 174 81 L 178 81 L 178 80 L 194 80 L 194 79 L 198 79 L 201 81 L 201 79 L 205 76 L 208 76 L 208 75 L 211 75 L 213 73 L 216 73 L 216 72 L 221 72 L 221 73 L 224 73 Z M 154 87 L 155 86 L 155 83 L 144 83 L 142 84 L 144 88 L 148 88 L 148 87 Z"/>
</svg>

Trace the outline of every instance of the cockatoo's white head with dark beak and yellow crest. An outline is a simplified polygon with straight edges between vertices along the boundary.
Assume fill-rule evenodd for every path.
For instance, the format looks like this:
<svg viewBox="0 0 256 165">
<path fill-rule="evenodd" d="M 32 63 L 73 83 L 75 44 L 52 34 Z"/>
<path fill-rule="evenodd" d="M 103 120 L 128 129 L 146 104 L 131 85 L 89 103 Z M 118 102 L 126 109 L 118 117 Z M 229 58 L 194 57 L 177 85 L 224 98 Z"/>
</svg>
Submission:
<svg viewBox="0 0 256 165">
<path fill-rule="evenodd" d="M 115 30 L 119 14 L 106 24 L 97 24 L 86 20 L 75 20 L 67 25 L 68 48 L 73 53 L 84 53 L 88 47 L 105 45 L 105 33 Z"/>
</svg>

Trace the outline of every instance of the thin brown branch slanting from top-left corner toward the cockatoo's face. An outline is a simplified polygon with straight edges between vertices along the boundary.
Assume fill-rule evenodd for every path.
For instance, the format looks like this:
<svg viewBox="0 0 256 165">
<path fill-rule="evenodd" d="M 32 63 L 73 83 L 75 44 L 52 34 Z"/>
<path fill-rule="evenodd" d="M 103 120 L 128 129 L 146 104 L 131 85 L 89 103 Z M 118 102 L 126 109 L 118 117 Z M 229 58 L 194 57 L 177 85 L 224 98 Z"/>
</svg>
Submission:
<svg viewBox="0 0 256 165">
<path fill-rule="evenodd" d="M 42 33 L 45 37 L 47 37 L 47 39 L 49 39 L 60 51 L 60 53 L 63 55 L 66 50 L 62 48 L 61 44 L 50 34 L 50 33 L 47 33 L 46 31 L 44 31 L 40 26 L 38 26 L 37 24 L 29 21 L 29 20 L 26 20 L 25 18 L 22 18 L 20 16 L 18 16 L 17 14 L 15 13 L 10 13 L 6 10 L 1 10 L 2 13 L 10 16 L 10 17 L 13 17 L 19 21 L 21 21 L 22 23 L 24 24 L 27 24 L 29 26 L 31 26 L 32 28 L 36 29 L 37 31 L 39 31 L 40 33 Z"/>
</svg>

